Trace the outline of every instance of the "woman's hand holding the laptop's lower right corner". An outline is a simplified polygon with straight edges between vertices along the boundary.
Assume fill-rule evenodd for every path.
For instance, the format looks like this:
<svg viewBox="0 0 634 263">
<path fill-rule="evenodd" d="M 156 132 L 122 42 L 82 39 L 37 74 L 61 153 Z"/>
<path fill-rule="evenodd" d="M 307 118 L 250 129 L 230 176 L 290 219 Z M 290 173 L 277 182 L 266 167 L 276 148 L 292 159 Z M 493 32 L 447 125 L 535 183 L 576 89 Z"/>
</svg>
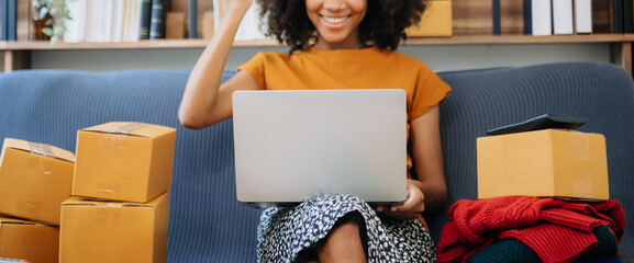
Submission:
<svg viewBox="0 0 634 263">
<path fill-rule="evenodd" d="M 418 183 L 408 179 L 408 197 L 401 205 L 377 206 L 375 210 L 389 217 L 399 219 L 413 219 L 425 210 L 425 195 Z"/>
</svg>

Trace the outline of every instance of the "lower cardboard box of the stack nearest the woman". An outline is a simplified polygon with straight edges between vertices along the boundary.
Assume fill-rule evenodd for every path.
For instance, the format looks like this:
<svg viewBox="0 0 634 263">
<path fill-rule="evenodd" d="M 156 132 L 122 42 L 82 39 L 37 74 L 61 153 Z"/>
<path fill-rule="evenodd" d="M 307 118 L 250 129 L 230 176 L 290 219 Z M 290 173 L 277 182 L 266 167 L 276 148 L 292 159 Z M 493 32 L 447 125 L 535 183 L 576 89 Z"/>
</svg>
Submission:
<svg viewBox="0 0 634 263">
<path fill-rule="evenodd" d="M 168 193 L 146 204 L 69 198 L 59 262 L 167 262 L 168 203 Z"/>
</svg>

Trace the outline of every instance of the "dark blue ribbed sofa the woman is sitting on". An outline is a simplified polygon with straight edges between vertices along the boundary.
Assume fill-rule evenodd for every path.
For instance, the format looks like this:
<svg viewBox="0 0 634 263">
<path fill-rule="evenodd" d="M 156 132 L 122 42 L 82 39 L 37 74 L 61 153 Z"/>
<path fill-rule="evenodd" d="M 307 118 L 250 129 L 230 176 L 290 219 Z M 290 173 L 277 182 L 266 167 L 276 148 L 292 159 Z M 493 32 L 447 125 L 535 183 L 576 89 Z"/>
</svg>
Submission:
<svg viewBox="0 0 634 263">
<path fill-rule="evenodd" d="M 225 72 L 225 79 L 234 72 Z M 235 198 L 232 121 L 201 130 L 179 125 L 188 70 L 0 75 L 0 141 L 5 137 L 75 150 L 77 130 L 111 122 L 177 128 L 169 207 L 169 262 L 254 262 L 259 211 Z M 620 67 L 566 62 L 443 72 L 442 104 L 449 204 L 426 215 L 437 242 L 451 204 L 477 198 L 476 138 L 544 113 L 588 116 L 579 130 L 607 138 L 611 197 L 634 218 L 634 85 Z M 634 230 L 619 247 L 634 262 Z"/>
</svg>

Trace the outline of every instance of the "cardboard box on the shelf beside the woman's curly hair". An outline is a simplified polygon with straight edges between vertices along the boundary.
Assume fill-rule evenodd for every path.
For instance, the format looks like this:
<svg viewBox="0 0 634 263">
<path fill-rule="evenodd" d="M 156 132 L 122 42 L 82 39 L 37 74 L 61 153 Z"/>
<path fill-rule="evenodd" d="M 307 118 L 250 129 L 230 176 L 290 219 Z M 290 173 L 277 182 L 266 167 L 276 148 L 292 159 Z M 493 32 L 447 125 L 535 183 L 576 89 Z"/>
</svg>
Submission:
<svg viewBox="0 0 634 263">
<path fill-rule="evenodd" d="M 427 10 L 423 13 L 418 25 L 405 30 L 410 37 L 452 36 L 453 15 L 451 0 L 427 1 Z"/>
</svg>

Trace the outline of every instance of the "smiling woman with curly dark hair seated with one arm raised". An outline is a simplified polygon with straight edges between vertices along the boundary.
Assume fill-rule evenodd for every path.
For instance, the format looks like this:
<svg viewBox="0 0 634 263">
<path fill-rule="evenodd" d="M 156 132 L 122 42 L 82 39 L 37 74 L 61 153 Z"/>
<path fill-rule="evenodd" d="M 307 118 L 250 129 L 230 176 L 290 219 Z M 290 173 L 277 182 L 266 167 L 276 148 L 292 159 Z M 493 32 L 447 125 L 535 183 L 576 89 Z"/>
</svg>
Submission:
<svg viewBox="0 0 634 263">
<path fill-rule="evenodd" d="M 263 211 L 262 262 L 434 262 L 422 213 L 444 206 L 438 104 L 451 88 L 423 62 L 396 52 L 422 0 L 260 0 L 269 35 L 289 53 L 258 53 L 221 83 L 233 38 L 253 0 L 230 1 L 229 15 L 192 69 L 179 108 L 183 126 L 232 116 L 236 90 L 402 89 L 408 101 L 408 197 L 370 207 L 352 195 L 322 195 Z M 387 76 L 387 77 L 386 77 Z M 326 106 L 326 105 L 324 105 Z M 416 164 L 416 165 L 414 165 Z"/>
</svg>

